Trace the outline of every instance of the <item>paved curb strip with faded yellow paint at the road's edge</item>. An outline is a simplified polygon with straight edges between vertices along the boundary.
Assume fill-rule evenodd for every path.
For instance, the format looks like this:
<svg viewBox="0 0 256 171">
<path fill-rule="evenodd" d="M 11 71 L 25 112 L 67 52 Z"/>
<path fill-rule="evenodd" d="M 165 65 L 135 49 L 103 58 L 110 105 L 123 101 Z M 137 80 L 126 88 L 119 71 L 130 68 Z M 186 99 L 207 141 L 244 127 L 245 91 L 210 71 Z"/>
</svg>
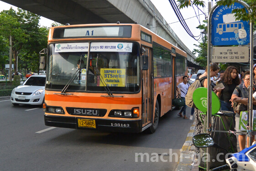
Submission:
<svg viewBox="0 0 256 171">
<path fill-rule="evenodd" d="M 195 121 L 193 122 L 187 134 L 187 139 L 182 146 L 180 153 L 180 160 L 175 171 L 192 171 L 197 169 L 198 166 L 192 166 L 192 157 L 194 156 L 195 146 L 192 145 L 192 138 L 195 135 Z"/>
</svg>

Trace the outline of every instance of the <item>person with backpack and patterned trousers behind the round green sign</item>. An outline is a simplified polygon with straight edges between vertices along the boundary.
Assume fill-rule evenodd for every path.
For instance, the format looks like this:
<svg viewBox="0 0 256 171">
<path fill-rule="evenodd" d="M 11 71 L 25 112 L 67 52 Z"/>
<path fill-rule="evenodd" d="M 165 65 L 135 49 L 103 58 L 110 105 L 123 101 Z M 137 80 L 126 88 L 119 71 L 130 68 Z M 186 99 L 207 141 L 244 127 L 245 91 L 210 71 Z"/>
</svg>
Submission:
<svg viewBox="0 0 256 171">
<path fill-rule="evenodd" d="M 208 67 L 206 67 L 205 69 L 205 72 L 200 75 L 199 77 L 197 77 L 197 79 L 201 79 L 201 85 L 203 85 L 203 87 L 207 88 L 207 83 L 208 83 L 208 80 L 207 80 L 207 69 Z M 216 63 L 210 63 L 210 77 L 213 77 L 215 76 L 217 73 L 219 73 L 219 67 Z M 212 84 L 212 88 L 214 87 L 215 84 Z M 221 92 L 221 90 L 224 89 L 224 88 L 213 88 L 213 92 L 214 93 L 217 93 L 217 92 Z M 202 120 L 200 119 L 200 114 L 203 113 L 202 111 L 200 111 L 199 109 L 196 109 L 195 108 L 195 135 L 197 134 L 202 134 L 203 133 L 203 122 Z M 205 115 L 202 114 L 201 118 L 204 120 L 204 117 Z M 196 147 L 196 150 L 195 152 L 198 154 L 199 153 L 199 149 Z"/>
</svg>

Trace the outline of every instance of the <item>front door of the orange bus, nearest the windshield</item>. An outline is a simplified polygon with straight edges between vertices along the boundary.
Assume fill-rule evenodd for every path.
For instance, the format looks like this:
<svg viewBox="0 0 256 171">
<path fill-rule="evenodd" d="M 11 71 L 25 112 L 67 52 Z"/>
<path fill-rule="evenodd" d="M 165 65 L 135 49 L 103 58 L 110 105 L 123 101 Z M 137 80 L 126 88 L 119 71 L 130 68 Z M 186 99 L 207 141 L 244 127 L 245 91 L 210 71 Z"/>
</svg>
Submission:
<svg viewBox="0 0 256 171">
<path fill-rule="evenodd" d="M 153 96 L 153 72 L 152 72 L 152 57 L 151 50 L 147 47 L 144 47 L 146 52 L 145 55 L 149 56 L 149 69 L 142 70 L 142 85 L 143 85 L 143 103 L 142 103 L 142 127 L 146 126 L 151 122 L 151 117 L 153 117 L 153 105 L 154 105 L 154 96 Z M 145 129 L 145 128 L 144 128 Z M 143 130 L 144 130 L 143 129 Z"/>
</svg>

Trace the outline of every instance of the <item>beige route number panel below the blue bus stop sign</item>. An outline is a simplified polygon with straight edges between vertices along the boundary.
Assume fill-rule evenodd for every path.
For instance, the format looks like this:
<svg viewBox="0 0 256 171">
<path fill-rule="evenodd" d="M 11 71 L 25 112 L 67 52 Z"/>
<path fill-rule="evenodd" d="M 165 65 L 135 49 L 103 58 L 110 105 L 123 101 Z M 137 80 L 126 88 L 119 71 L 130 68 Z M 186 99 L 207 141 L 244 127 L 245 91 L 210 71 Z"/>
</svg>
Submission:
<svg viewBox="0 0 256 171">
<path fill-rule="evenodd" d="M 249 62 L 249 47 L 213 47 L 212 62 Z"/>
</svg>

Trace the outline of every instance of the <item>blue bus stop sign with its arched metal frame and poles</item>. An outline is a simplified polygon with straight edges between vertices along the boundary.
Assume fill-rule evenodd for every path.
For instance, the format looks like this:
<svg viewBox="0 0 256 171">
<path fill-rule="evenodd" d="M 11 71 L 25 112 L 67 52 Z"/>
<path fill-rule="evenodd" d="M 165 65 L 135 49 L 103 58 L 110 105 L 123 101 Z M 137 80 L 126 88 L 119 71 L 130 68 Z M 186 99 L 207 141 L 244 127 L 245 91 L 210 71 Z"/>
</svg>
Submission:
<svg viewBox="0 0 256 171">
<path fill-rule="evenodd" d="M 251 14 L 251 10 L 249 10 L 249 5 L 247 5 L 244 1 L 237 1 L 235 5 L 242 5 L 240 8 L 246 8 L 246 10 L 249 12 L 249 14 Z M 233 4 L 233 7 L 235 6 Z M 207 79 L 208 79 L 208 90 L 207 90 L 207 132 L 206 133 L 210 133 L 212 130 L 211 128 L 211 119 L 212 119 L 212 110 L 211 110 L 211 104 L 212 104 L 212 98 L 211 98 L 211 86 L 210 86 L 210 63 L 212 62 L 212 47 L 213 46 L 226 46 L 226 45 L 245 45 L 248 46 L 248 44 L 250 44 L 250 88 L 249 88 L 249 105 L 248 105 L 248 113 L 249 113 L 249 117 L 248 117 L 248 123 L 249 123 L 249 128 L 248 128 L 248 134 L 249 134 L 249 142 L 251 145 L 251 132 L 252 132 L 252 123 L 253 123 L 253 115 L 252 115 L 252 85 L 253 85 L 253 22 L 250 22 L 250 28 L 247 27 L 247 23 L 248 21 L 236 21 L 234 20 L 234 18 L 232 17 L 232 14 L 230 16 L 230 13 L 232 12 L 232 5 L 230 6 L 221 6 L 221 11 L 218 12 L 218 14 L 215 16 L 214 20 L 217 22 L 213 22 L 215 23 L 217 26 L 215 26 L 212 23 L 212 18 L 213 18 L 213 12 L 215 9 L 217 9 L 219 7 L 219 5 L 215 5 L 212 9 L 211 9 L 211 2 L 208 3 L 208 9 L 210 11 L 208 11 L 208 60 L 207 60 L 207 66 L 208 66 L 208 71 L 207 71 Z M 223 11 L 224 10 L 231 10 L 230 12 L 228 12 L 227 14 L 223 15 Z M 223 17 L 223 21 L 220 21 L 220 17 Z M 218 24 L 219 22 L 219 24 Z M 228 23 L 228 24 L 226 24 Z M 230 23 L 230 24 L 229 24 Z M 237 25 L 235 25 L 237 24 Z M 226 27 L 224 26 L 237 26 L 239 30 L 236 31 L 228 31 Z M 239 27 L 241 26 L 241 28 Z M 218 28 L 223 30 L 217 30 Z M 212 28 L 213 28 L 213 32 L 212 32 Z M 216 30 L 215 30 L 216 29 Z M 226 29 L 226 30 L 225 30 Z M 235 29 L 235 28 L 234 28 Z M 240 36 L 238 36 L 238 32 L 240 31 L 241 33 L 246 33 L 248 30 L 250 29 L 250 38 L 249 35 L 244 36 L 243 39 L 240 41 Z M 218 32 L 218 34 L 217 34 Z M 225 33 L 224 33 L 225 32 Z M 239 33 L 240 33 L 239 32 Z M 212 35 L 213 34 L 213 35 Z M 218 35 L 218 36 L 216 36 Z M 226 36 L 223 37 L 223 36 Z M 233 36 L 233 37 L 232 37 Z M 238 41 L 233 41 L 233 40 L 238 40 Z M 248 41 L 249 39 L 249 41 Z M 216 60 L 215 60 L 216 61 Z M 231 61 L 232 62 L 232 61 Z M 236 62 L 236 61 L 234 61 Z M 239 131 L 239 130 L 236 130 Z M 209 150 L 207 148 L 207 153 L 209 154 Z M 206 167 L 207 167 L 207 171 L 209 171 L 209 163 L 208 163 L 208 159 L 206 162 Z"/>
</svg>

